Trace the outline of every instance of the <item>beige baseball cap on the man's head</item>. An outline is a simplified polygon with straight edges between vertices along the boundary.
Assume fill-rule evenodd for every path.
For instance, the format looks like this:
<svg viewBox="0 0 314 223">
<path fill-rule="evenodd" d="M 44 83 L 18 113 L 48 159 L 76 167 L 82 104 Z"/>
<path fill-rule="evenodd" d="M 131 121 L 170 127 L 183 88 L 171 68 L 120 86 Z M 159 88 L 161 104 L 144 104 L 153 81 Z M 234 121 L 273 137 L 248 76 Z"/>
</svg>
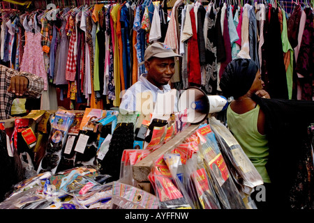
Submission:
<svg viewBox="0 0 314 223">
<path fill-rule="evenodd" d="M 182 57 L 181 55 L 174 53 L 171 47 L 160 42 L 153 43 L 147 47 L 145 50 L 144 61 L 148 61 L 153 56 L 158 58 L 167 58 L 172 56 Z M 139 63 L 139 66 L 144 64 L 144 61 Z"/>
</svg>

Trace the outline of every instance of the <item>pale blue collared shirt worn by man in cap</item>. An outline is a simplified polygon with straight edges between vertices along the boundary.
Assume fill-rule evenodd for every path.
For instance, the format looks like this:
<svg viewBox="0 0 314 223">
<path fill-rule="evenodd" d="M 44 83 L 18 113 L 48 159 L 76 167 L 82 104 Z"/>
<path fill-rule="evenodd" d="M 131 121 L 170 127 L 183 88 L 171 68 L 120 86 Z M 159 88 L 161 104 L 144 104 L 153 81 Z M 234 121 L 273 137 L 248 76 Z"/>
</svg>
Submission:
<svg viewBox="0 0 314 223">
<path fill-rule="evenodd" d="M 151 93 L 153 94 L 153 102 L 156 102 L 158 93 L 166 93 L 171 90 L 169 84 L 163 86 L 163 91 L 158 89 L 158 87 L 155 86 L 154 84 L 151 84 L 151 82 L 149 82 L 146 77 L 147 74 L 141 75 L 138 82 L 130 86 L 130 88 L 126 91 L 122 98 L 120 109 L 125 109 L 127 111 L 135 111 L 137 93 L 151 91 Z"/>
</svg>

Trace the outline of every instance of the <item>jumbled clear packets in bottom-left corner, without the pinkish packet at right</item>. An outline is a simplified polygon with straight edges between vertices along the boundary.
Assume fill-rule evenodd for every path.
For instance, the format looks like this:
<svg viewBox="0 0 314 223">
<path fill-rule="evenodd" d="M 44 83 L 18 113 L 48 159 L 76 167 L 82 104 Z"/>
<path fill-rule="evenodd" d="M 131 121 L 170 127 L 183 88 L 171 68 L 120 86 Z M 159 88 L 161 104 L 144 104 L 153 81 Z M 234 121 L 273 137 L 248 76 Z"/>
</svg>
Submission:
<svg viewBox="0 0 314 223">
<path fill-rule="evenodd" d="M 47 171 L 14 185 L 0 209 L 111 208 L 112 184 L 93 167 Z"/>
</svg>

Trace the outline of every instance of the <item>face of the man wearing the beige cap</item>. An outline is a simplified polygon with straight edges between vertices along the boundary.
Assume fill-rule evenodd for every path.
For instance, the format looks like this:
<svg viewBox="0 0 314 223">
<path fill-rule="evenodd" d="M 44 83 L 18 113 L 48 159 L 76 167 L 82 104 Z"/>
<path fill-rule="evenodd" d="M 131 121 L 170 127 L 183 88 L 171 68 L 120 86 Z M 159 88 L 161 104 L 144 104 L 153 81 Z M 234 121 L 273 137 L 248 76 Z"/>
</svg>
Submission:
<svg viewBox="0 0 314 223">
<path fill-rule="evenodd" d="M 172 75 L 174 75 L 174 57 L 153 57 L 149 61 L 145 61 L 145 68 L 147 70 L 147 80 L 159 89 L 163 89 L 163 85 L 168 84 Z"/>
</svg>

